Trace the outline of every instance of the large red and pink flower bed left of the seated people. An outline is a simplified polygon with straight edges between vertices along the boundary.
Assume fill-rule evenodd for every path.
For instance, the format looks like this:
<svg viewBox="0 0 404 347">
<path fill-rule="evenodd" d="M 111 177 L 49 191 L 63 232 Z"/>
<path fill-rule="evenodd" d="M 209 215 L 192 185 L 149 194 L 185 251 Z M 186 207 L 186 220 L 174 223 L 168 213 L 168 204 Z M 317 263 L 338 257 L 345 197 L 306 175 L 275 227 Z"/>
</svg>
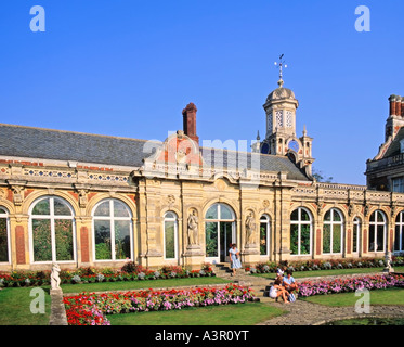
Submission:
<svg viewBox="0 0 404 347">
<path fill-rule="evenodd" d="M 235 284 L 219 288 L 82 293 L 63 299 L 69 325 L 109 325 L 107 314 L 181 310 L 258 300 L 250 288 Z"/>
</svg>

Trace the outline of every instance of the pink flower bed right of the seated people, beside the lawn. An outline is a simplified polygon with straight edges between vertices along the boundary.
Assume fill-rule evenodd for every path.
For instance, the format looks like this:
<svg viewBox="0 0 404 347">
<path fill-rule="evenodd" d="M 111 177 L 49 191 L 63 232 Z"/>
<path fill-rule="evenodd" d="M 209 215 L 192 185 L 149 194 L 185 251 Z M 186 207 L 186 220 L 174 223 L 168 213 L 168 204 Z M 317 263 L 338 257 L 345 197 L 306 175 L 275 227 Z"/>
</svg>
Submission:
<svg viewBox="0 0 404 347">
<path fill-rule="evenodd" d="M 367 275 L 361 278 L 337 279 L 333 281 L 304 281 L 299 283 L 299 296 L 336 294 L 355 292 L 356 290 L 381 290 L 388 287 L 404 287 L 404 275 Z"/>
</svg>

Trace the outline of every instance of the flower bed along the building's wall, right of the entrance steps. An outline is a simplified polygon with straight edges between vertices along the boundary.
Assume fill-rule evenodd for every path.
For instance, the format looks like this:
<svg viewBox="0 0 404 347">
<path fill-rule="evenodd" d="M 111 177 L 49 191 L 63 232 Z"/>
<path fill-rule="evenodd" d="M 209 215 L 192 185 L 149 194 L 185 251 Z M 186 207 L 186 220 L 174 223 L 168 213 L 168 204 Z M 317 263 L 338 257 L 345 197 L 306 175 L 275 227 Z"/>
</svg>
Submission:
<svg viewBox="0 0 404 347">
<path fill-rule="evenodd" d="M 276 272 L 285 264 L 273 261 L 259 262 L 255 267 L 246 268 L 251 273 Z M 392 266 L 404 266 L 404 257 L 392 257 Z M 287 268 L 292 271 L 316 271 L 331 269 L 353 269 L 353 268 L 380 268 L 385 267 L 383 258 L 362 258 L 362 259 L 330 259 L 330 260 L 303 260 L 289 261 Z"/>
</svg>

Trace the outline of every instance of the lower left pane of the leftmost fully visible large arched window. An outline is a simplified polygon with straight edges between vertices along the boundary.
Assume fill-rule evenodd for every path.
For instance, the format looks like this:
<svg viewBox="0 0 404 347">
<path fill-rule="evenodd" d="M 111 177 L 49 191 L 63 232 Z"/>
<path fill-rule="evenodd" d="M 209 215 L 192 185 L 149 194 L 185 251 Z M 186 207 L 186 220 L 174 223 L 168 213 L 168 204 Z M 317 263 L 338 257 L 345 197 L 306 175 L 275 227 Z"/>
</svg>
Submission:
<svg viewBox="0 0 404 347">
<path fill-rule="evenodd" d="M 32 219 L 34 261 L 52 261 L 50 219 Z"/>
</svg>

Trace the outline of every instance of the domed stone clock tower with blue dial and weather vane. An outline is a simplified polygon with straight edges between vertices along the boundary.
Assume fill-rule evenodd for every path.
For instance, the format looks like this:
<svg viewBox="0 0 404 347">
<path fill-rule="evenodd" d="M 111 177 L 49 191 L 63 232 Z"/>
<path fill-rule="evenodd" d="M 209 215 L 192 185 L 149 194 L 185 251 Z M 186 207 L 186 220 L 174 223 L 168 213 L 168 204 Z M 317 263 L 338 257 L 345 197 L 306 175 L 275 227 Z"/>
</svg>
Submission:
<svg viewBox="0 0 404 347">
<path fill-rule="evenodd" d="M 281 55 L 282 60 L 283 55 Z M 311 177 L 312 172 L 312 141 L 308 137 L 305 127 L 303 136 L 296 136 L 296 111 L 299 102 L 295 93 L 284 87 L 282 68 L 284 62 L 275 63 L 279 66 L 278 88 L 272 91 L 263 105 L 266 115 L 266 134 L 260 143 L 260 152 L 271 155 L 287 155 Z"/>
</svg>

